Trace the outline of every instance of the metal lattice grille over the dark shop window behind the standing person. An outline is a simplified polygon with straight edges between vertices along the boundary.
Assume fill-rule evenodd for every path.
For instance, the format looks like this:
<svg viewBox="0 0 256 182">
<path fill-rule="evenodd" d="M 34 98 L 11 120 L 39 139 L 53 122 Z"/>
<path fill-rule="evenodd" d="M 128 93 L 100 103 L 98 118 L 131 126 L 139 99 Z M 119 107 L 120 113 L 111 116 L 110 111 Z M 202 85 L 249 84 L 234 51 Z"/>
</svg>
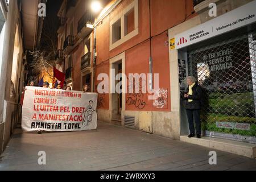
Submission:
<svg viewBox="0 0 256 182">
<path fill-rule="evenodd" d="M 256 32 L 188 52 L 204 90 L 202 128 L 211 137 L 256 143 Z"/>
</svg>

